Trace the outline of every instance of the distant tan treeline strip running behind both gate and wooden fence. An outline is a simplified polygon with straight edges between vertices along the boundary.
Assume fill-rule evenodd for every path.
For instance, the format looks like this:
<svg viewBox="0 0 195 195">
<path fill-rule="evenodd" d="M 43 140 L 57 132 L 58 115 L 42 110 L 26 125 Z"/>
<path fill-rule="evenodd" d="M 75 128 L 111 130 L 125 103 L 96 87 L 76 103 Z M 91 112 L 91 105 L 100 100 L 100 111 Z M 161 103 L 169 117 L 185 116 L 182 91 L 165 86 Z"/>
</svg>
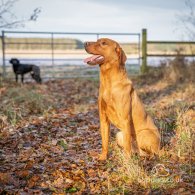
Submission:
<svg viewBox="0 0 195 195">
<path fill-rule="evenodd" d="M 126 54 L 138 54 L 138 43 L 121 43 Z M 141 46 L 140 46 L 141 47 Z M 0 49 L 2 42 L 0 41 Z M 83 42 L 74 38 L 5 38 L 5 48 L 13 50 L 76 50 L 83 49 Z M 140 48 L 141 49 L 141 48 Z M 195 45 L 189 44 L 148 44 L 148 53 L 195 53 Z"/>
</svg>

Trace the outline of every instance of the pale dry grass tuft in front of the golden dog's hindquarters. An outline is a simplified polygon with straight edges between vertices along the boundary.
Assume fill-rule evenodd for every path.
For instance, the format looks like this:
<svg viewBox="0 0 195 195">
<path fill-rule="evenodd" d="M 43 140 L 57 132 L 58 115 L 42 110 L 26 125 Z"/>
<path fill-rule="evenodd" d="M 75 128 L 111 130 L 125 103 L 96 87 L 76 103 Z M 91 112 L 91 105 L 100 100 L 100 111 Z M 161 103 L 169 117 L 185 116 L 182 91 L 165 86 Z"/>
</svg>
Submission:
<svg viewBox="0 0 195 195">
<path fill-rule="evenodd" d="M 125 158 L 124 153 L 121 149 L 119 149 L 116 145 L 113 147 L 114 156 L 116 159 L 112 159 L 109 161 L 109 167 L 111 170 L 114 168 L 115 172 L 111 172 L 109 178 L 109 192 L 114 193 L 123 193 L 123 192 L 133 192 L 139 189 L 168 189 L 175 187 L 177 184 L 173 179 L 172 175 L 161 174 L 159 172 L 154 172 L 154 168 L 158 166 L 158 164 L 163 164 L 162 160 L 152 160 L 152 165 L 148 170 L 148 166 L 146 167 L 143 158 L 138 156 L 133 156 L 129 159 Z M 156 170 L 160 170 L 157 168 Z M 112 193 L 111 193 L 112 194 Z"/>
</svg>

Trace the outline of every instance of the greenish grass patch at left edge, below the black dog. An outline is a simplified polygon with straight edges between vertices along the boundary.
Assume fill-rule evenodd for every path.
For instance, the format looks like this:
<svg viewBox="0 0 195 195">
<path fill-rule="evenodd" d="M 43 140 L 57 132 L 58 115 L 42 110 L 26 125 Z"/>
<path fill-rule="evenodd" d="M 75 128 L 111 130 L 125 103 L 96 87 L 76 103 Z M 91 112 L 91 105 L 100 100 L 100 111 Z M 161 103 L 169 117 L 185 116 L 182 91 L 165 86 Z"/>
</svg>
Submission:
<svg viewBox="0 0 195 195">
<path fill-rule="evenodd" d="M 29 115 L 44 114 L 54 107 L 52 101 L 46 95 L 38 92 L 33 86 L 31 88 L 23 86 L 10 87 L 2 96 L 1 102 L 0 116 L 12 125 Z"/>
</svg>

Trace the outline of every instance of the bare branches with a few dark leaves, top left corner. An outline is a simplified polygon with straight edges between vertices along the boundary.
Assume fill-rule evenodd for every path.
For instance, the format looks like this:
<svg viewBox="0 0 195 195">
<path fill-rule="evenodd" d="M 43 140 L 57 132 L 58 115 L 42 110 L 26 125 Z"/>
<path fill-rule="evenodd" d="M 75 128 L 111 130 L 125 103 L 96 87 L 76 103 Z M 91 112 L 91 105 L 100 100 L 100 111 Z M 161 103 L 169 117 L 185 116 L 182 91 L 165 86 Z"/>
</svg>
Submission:
<svg viewBox="0 0 195 195">
<path fill-rule="evenodd" d="M 17 1 L 18 0 L 0 0 L 0 29 L 22 27 L 27 21 L 37 20 L 41 12 L 40 8 L 35 8 L 28 18 L 18 18 L 12 11 Z"/>
</svg>

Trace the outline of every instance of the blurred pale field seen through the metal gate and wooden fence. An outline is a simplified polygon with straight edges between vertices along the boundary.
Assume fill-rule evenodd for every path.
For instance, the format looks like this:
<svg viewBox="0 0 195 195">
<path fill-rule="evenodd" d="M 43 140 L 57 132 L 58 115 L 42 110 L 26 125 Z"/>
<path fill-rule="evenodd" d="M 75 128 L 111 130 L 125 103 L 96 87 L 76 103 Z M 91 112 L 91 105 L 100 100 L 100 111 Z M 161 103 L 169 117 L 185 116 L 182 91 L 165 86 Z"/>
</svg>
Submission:
<svg viewBox="0 0 195 195">
<path fill-rule="evenodd" d="M 41 67 L 44 79 L 93 77 L 98 76 L 98 68 L 84 64 L 88 56 L 84 50 L 84 42 L 97 38 L 109 37 L 118 41 L 127 55 L 126 67 L 129 74 L 140 73 L 143 61 L 143 40 L 141 33 L 52 33 L 52 32 L 4 32 L 1 60 L 5 66 L 7 78 L 13 79 L 11 58 L 18 58 L 21 63 L 36 64 Z M 25 38 L 24 38 L 25 37 Z M 186 60 L 194 59 L 194 42 L 150 41 L 146 40 L 147 65 L 160 66 L 161 62 L 173 60 L 175 56 L 186 56 Z M 3 43 L 3 45 L 2 45 Z M 27 76 L 27 79 L 30 77 Z"/>
</svg>

